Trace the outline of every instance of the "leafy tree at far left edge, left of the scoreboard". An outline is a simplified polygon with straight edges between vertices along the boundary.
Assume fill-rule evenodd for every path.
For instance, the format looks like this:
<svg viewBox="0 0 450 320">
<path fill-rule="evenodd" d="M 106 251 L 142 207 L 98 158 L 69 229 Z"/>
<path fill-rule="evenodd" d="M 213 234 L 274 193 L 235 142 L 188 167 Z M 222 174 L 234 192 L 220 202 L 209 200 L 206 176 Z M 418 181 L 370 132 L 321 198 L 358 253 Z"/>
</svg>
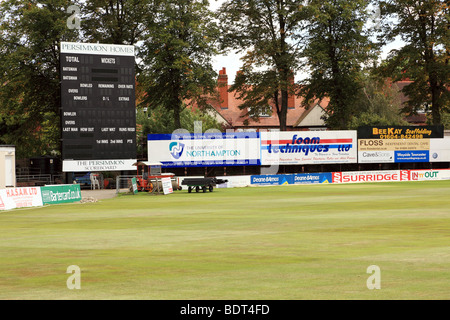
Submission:
<svg viewBox="0 0 450 320">
<path fill-rule="evenodd" d="M 68 0 L 0 3 L 0 141 L 18 157 L 60 151 L 59 43 L 73 41 Z"/>
</svg>

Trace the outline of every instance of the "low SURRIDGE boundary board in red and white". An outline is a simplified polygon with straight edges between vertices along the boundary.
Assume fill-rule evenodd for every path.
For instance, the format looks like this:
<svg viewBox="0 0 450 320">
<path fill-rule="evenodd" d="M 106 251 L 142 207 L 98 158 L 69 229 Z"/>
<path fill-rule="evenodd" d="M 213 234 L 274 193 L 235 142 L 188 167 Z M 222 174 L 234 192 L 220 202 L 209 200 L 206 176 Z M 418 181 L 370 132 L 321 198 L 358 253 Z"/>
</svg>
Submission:
<svg viewBox="0 0 450 320">
<path fill-rule="evenodd" d="M 333 172 L 333 183 L 403 181 L 400 170 Z"/>
</svg>

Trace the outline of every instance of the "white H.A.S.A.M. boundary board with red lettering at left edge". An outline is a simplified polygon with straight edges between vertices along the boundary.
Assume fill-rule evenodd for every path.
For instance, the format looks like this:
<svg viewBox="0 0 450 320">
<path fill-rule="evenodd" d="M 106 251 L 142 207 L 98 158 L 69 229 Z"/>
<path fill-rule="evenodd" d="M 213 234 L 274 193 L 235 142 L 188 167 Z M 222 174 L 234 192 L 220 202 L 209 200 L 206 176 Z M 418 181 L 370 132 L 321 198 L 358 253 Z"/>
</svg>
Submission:
<svg viewBox="0 0 450 320">
<path fill-rule="evenodd" d="M 40 187 L 8 188 L 0 190 L 0 210 L 42 206 Z"/>
</svg>

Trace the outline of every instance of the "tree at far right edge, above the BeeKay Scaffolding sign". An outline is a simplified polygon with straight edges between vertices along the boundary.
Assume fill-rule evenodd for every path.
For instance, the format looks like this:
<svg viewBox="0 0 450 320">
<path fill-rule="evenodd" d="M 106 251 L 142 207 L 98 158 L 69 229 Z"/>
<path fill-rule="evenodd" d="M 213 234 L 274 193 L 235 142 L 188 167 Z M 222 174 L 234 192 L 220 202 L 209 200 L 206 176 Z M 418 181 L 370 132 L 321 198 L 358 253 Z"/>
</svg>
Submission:
<svg viewBox="0 0 450 320">
<path fill-rule="evenodd" d="M 403 89 L 408 96 L 406 112 L 431 109 L 433 124 L 441 124 L 441 114 L 450 106 L 448 1 L 383 0 L 378 4 L 384 18 L 383 40 L 401 37 L 405 42 L 401 49 L 391 51 L 385 74 L 394 81 L 412 81 Z"/>
</svg>

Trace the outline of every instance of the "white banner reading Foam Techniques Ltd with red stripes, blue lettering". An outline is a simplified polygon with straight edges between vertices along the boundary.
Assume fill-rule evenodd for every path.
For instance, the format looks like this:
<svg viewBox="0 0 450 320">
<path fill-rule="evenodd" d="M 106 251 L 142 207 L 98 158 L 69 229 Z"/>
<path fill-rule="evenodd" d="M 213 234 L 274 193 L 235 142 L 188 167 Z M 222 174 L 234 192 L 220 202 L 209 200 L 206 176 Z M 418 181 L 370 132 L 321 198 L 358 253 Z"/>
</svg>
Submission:
<svg viewBox="0 0 450 320">
<path fill-rule="evenodd" d="M 357 162 L 356 131 L 288 131 L 261 133 L 261 164 Z"/>
</svg>

